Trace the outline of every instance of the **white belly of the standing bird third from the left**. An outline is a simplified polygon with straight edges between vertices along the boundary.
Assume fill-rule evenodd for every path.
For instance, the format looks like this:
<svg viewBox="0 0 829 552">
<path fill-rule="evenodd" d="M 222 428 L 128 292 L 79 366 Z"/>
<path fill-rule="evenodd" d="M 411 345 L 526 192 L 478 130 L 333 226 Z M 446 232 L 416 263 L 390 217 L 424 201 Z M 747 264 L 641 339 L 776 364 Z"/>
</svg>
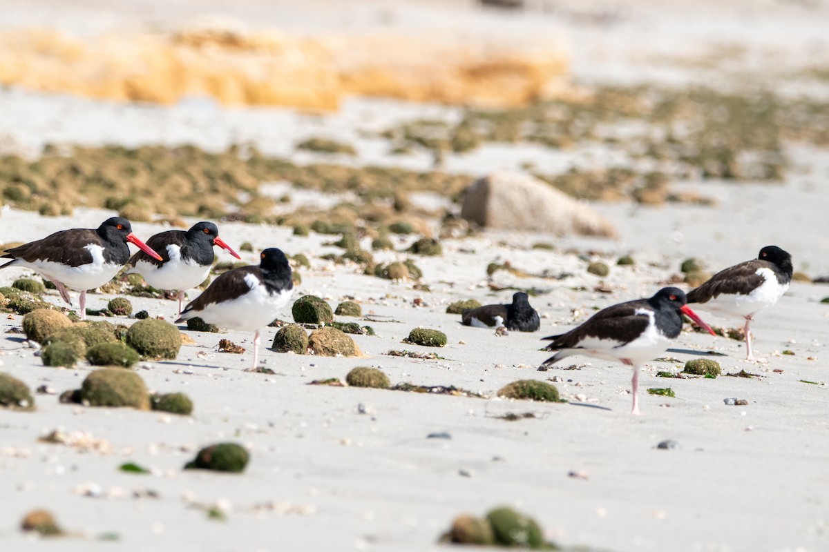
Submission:
<svg viewBox="0 0 829 552">
<path fill-rule="evenodd" d="M 271 295 L 264 286 L 256 286 L 236 299 L 211 303 L 205 310 L 194 310 L 192 315 L 220 328 L 253 331 L 273 322 L 279 316 L 279 310 L 288 304 L 292 292 L 286 290 Z"/>
</svg>

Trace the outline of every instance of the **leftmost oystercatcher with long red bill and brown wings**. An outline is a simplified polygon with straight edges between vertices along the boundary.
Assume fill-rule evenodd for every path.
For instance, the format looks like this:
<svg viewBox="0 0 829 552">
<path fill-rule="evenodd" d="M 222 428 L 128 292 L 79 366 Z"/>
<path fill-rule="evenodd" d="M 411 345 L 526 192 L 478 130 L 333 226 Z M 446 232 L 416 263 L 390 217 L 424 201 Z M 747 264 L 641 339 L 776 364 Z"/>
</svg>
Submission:
<svg viewBox="0 0 829 552">
<path fill-rule="evenodd" d="M 86 290 L 103 286 L 129 260 L 127 242 L 152 257 L 152 247 L 133 234 L 126 218 L 107 218 L 97 229 L 72 228 L 46 238 L 7 249 L 2 258 L 14 259 L 0 266 L 26 266 L 51 281 L 70 305 L 70 290 L 80 291 L 80 319 L 86 319 Z"/>
</svg>

